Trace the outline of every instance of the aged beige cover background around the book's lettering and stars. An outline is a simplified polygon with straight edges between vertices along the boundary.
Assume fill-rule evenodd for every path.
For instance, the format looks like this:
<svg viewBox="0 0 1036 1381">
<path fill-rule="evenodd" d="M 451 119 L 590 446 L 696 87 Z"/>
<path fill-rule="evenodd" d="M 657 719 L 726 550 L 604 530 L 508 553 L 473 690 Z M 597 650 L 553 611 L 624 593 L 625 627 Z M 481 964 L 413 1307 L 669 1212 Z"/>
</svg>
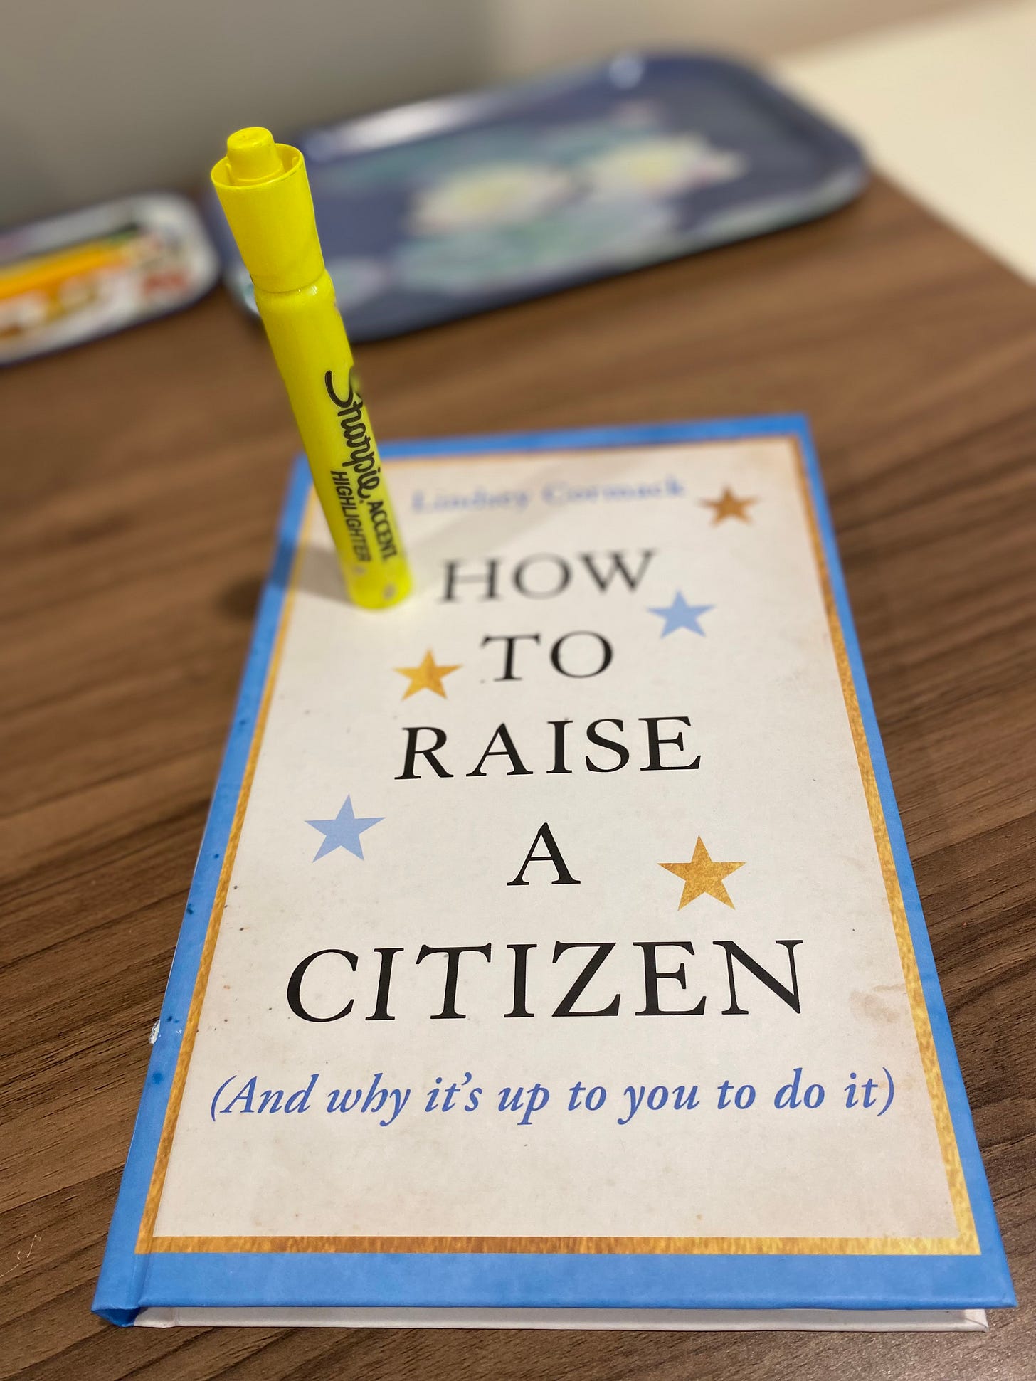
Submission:
<svg viewBox="0 0 1036 1381">
<path fill-rule="evenodd" d="M 548 507 L 544 482 L 599 485 L 667 476 L 680 497 Z M 753 522 L 711 526 L 700 500 L 724 485 L 758 497 Z M 530 494 L 515 518 L 417 514 L 435 496 L 478 487 Z M 343 603 L 323 525 L 301 569 L 229 900 L 173 1146 L 159 1236 L 485 1235 L 485 1236 L 955 1236 L 934 1119 L 906 1000 L 874 836 L 850 733 L 792 447 L 783 442 L 659 449 L 529 461 L 394 465 L 394 494 L 416 558 L 419 590 L 399 609 L 370 615 Z M 637 551 L 658 547 L 637 592 L 601 595 L 583 574 L 564 595 L 443 603 L 441 561 L 492 551 Z M 646 612 L 674 590 L 711 603 L 706 637 L 660 637 Z M 521 682 L 495 684 L 499 648 L 486 634 L 540 632 L 543 648 L 573 628 L 599 630 L 615 660 L 599 677 L 568 679 L 546 650 L 521 652 Z M 402 700 L 392 670 L 431 648 L 460 663 L 448 697 Z M 640 715 L 685 714 L 693 772 L 644 773 Z M 624 721 L 627 768 L 583 769 L 583 726 Z M 546 776 L 548 720 L 570 718 L 572 775 Z M 470 772 L 506 720 L 535 775 Z M 402 725 L 448 732 L 449 780 L 396 780 Z M 591 750 L 598 760 L 606 754 Z M 670 750 L 675 751 L 675 750 Z M 337 851 L 314 862 L 320 836 L 305 822 L 333 816 L 347 794 L 358 815 L 384 816 L 363 834 L 365 860 Z M 541 822 L 551 822 L 579 887 L 554 887 L 533 865 L 510 888 Z M 691 858 L 698 834 L 717 859 L 745 860 L 728 882 L 735 909 L 700 898 L 684 910 L 681 882 L 658 865 Z M 623 992 L 619 1016 L 553 1019 L 575 978 L 557 968 L 555 939 L 615 940 L 606 975 L 583 1005 Z M 666 1005 L 700 1018 L 637 1018 L 642 960 L 635 940 L 689 939 L 687 1000 L 662 983 Z M 751 976 L 739 976 L 749 1015 L 722 1016 L 725 967 L 716 939 L 735 939 L 787 975 L 778 939 L 797 952 L 803 1014 Z M 493 945 L 461 968 L 464 1021 L 439 1010 L 442 958 L 421 943 Z M 532 1021 L 504 1021 L 511 1001 L 508 942 L 530 954 Z M 377 983 L 374 946 L 396 957 L 390 1023 L 365 1022 Z M 287 976 L 308 953 L 359 954 L 312 971 L 305 1000 L 354 1012 L 301 1022 L 285 1001 Z M 673 964 L 669 964 L 669 960 Z M 599 1001 L 597 1000 L 599 998 Z M 827 1088 L 815 1110 L 776 1112 L 772 1098 L 804 1066 Z M 847 1112 L 850 1072 L 881 1079 L 896 1101 L 880 1120 Z M 391 1127 L 327 1114 L 326 1092 L 376 1072 L 413 1090 Z M 485 1090 L 475 1113 L 424 1113 L 424 1092 L 466 1070 Z M 217 1087 L 258 1076 L 260 1088 L 303 1087 L 319 1072 L 301 1116 L 220 1113 Z M 597 1113 L 565 1110 L 576 1081 L 602 1084 Z M 757 1087 L 745 1112 L 716 1109 L 724 1079 Z M 504 1085 L 539 1080 L 550 1105 L 529 1126 L 496 1110 Z M 693 1112 L 642 1108 L 619 1127 L 626 1085 L 700 1085 Z M 235 1085 L 238 1087 L 238 1085 Z M 320 1097 L 320 1095 L 325 1097 Z M 227 1097 L 227 1095 L 225 1095 Z M 225 1102 L 225 1098 L 224 1098 Z M 224 1106 L 224 1102 L 220 1106 Z M 204 1175 L 199 1174 L 206 1167 Z"/>
</svg>

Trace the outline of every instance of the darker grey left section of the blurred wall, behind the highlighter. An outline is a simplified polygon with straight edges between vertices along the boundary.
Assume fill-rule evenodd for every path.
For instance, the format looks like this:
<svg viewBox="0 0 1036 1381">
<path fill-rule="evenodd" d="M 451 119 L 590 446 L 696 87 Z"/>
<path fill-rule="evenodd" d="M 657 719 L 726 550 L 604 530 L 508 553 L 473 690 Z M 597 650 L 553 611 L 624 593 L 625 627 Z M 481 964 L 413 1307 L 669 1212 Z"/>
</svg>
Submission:
<svg viewBox="0 0 1036 1381">
<path fill-rule="evenodd" d="M 231 130 L 464 88 L 483 0 L 7 0 L 0 224 L 207 174 Z"/>
</svg>

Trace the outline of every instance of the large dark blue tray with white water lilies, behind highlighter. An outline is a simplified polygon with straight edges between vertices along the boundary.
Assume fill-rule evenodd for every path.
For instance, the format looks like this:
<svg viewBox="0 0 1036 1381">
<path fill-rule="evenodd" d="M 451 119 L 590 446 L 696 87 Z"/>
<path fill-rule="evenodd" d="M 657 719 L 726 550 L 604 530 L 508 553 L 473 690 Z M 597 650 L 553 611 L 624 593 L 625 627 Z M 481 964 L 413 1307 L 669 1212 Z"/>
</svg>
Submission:
<svg viewBox="0 0 1036 1381">
<path fill-rule="evenodd" d="M 627 54 L 325 128 L 305 153 L 354 340 L 377 340 L 764 235 L 844 206 L 859 148 L 758 73 Z M 215 199 L 225 282 L 251 282 Z"/>
</svg>

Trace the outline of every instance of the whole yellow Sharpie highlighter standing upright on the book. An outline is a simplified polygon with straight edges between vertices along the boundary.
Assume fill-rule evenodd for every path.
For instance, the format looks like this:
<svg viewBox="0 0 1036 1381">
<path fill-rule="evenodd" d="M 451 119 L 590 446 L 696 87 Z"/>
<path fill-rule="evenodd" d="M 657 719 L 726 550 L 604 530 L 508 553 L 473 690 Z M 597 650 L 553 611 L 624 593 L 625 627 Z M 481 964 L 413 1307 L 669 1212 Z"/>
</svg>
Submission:
<svg viewBox="0 0 1036 1381">
<path fill-rule="evenodd" d="M 410 569 L 323 267 L 305 160 L 269 130 L 238 130 L 213 185 L 256 284 L 345 590 L 366 609 L 398 603 Z"/>
</svg>

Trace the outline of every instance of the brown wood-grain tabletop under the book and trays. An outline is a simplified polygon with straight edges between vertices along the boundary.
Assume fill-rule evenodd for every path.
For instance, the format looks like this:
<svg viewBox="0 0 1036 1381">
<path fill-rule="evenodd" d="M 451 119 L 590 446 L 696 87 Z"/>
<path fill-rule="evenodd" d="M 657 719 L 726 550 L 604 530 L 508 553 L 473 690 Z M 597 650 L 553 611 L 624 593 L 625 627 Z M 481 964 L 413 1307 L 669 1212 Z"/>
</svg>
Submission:
<svg viewBox="0 0 1036 1381">
<path fill-rule="evenodd" d="M 809 413 L 1022 1308 L 989 1335 L 90 1313 L 297 449 L 265 342 L 220 291 L 0 378 L 0 1374 L 1032 1377 L 1036 294 L 876 185 L 816 225 L 359 359 L 383 436 Z"/>
</svg>

